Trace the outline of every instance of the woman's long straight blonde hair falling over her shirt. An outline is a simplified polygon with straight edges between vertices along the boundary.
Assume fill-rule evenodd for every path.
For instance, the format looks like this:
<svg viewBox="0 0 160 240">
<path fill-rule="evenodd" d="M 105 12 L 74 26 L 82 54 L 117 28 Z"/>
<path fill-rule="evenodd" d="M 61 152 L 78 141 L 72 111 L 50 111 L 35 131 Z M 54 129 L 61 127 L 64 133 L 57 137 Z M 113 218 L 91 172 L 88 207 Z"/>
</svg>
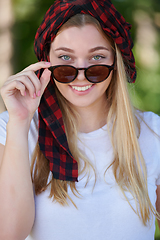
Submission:
<svg viewBox="0 0 160 240">
<path fill-rule="evenodd" d="M 111 137 L 114 152 L 114 160 L 109 167 L 112 167 L 115 180 L 124 196 L 126 197 L 126 191 L 132 194 L 136 202 L 136 210 L 133 210 L 142 219 L 143 224 L 146 225 L 150 221 L 151 212 L 156 217 L 159 217 L 159 215 L 148 195 L 147 171 L 138 143 L 140 124 L 136 117 L 135 109 L 130 102 L 127 89 L 127 76 L 121 52 L 113 40 L 104 34 L 99 22 L 89 15 L 75 15 L 61 27 L 60 31 L 71 26 L 82 27 L 86 24 L 96 26 L 103 36 L 107 37 L 112 48 L 115 49 L 117 69 L 114 71 L 113 78 L 106 91 L 107 100 L 110 105 L 107 116 L 108 133 Z M 68 145 L 73 157 L 78 162 L 79 175 L 82 172 L 86 172 L 86 174 L 88 172 L 89 179 L 90 169 L 93 166 L 83 153 L 79 151 L 77 146 L 78 113 L 71 108 L 69 102 L 57 89 L 56 94 L 63 115 Z M 80 165 L 80 159 L 84 163 L 83 168 Z M 108 168 L 105 173 L 107 170 Z M 67 204 L 67 199 L 69 199 L 74 204 L 68 195 L 67 189 L 70 187 L 72 192 L 78 197 L 79 193 L 76 189 L 76 184 L 74 182 L 54 179 L 53 176 L 51 182 L 47 184 L 49 172 L 49 162 L 41 153 L 37 143 L 31 166 L 35 193 L 40 194 L 50 185 L 50 197 L 53 200 L 65 205 Z M 127 201 L 129 203 L 128 199 Z"/>
</svg>

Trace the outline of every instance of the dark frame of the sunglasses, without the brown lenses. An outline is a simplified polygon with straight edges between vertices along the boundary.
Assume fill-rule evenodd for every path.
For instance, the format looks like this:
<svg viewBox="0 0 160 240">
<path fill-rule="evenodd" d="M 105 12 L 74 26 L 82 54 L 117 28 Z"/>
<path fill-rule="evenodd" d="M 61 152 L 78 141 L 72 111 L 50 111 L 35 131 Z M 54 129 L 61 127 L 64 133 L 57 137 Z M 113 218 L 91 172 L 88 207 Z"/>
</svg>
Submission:
<svg viewBox="0 0 160 240">
<path fill-rule="evenodd" d="M 64 83 L 64 84 L 68 84 L 68 83 L 73 82 L 73 81 L 76 79 L 76 77 L 78 76 L 78 71 L 79 71 L 79 70 L 84 70 L 85 78 L 86 78 L 89 82 L 96 84 L 96 83 L 100 83 L 100 82 L 105 81 L 105 80 L 109 77 L 111 71 L 114 70 L 114 65 L 115 65 L 115 61 L 114 61 L 114 63 L 113 63 L 111 66 L 105 65 L 105 64 L 97 64 L 97 65 L 91 65 L 91 66 L 89 66 L 89 67 L 87 67 L 87 68 L 76 68 L 76 67 L 74 67 L 74 66 L 72 66 L 72 65 L 55 65 L 55 66 L 49 67 L 48 69 L 51 71 L 53 78 L 54 78 L 57 82 Z M 98 67 L 98 66 L 104 66 L 104 67 L 108 68 L 108 70 L 109 70 L 108 76 L 107 76 L 104 80 L 102 80 L 102 81 L 92 82 L 91 80 L 88 79 L 86 72 L 87 72 L 88 69 L 93 68 L 93 67 Z M 76 74 L 75 74 L 75 77 L 73 78 L 73 80 L 72 80 L 72 81 L 69 81 L 69 82 L 61 82 L 61 81 L 59 81 L 58 79 L 56 79 L 55 76 L 54 76 L 54 69 L 56 69 L 56 68 L 58 68 L 58 67 L 71 67 L 71 68 L 73 68 L 74 70 L 76 70 Z"/>
</svg>

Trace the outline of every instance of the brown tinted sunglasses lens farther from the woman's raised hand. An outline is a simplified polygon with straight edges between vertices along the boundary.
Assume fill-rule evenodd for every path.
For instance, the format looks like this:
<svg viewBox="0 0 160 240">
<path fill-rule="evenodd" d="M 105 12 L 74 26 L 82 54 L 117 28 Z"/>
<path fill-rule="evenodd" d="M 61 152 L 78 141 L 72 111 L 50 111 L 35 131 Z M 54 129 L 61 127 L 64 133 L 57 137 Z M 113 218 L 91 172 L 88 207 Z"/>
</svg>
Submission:
<svg viewBox="0 0 160 240">
<path fill-rule="evenodd" d="M 106 66 L 91 66 L 86 71 L 86 77 L 93 83 L 104 81 L 109 74 L 109 69 Z"/>
</svg>

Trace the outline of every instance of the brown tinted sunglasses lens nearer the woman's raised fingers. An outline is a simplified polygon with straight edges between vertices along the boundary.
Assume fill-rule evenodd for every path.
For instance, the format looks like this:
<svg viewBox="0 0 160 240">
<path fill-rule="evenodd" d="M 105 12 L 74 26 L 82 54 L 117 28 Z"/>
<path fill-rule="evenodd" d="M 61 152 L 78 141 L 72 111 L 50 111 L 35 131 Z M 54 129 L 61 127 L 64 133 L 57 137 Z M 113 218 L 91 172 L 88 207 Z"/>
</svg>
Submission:
<svg viewBox="0 0 160 240">
<path fill-rule="evenodd" d="M 71 66 L 59 66 L 53 71 L 54 78 L 62 83 L 73 81 L 76 76 L 76 69 Z"/>
</svg>

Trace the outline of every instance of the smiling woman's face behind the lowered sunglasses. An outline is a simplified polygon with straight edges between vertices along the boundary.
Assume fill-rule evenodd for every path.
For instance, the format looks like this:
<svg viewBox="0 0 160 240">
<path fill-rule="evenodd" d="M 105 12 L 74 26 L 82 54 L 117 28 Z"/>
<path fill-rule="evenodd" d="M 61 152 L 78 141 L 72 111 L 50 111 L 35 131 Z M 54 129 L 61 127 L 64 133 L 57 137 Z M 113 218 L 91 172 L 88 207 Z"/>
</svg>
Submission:
<svg viewBox="0 0 160 240">
<path fill-rule="evenodd" d="M 113 50 L 109 41 L 93 25 L 70 27 L 60 32 L 51 44 L 50 62 L 52 65 L 72 65 L 86 68 L 96 64 L 112 65 Z M 75 107 L 103 108 L 106 103 L 106 89 L 112 79 L 109 77 L 97 84 L 89 82 L 84 70 L 79 70 L 77 78 L 68 84 L 55 84 L 61 94 Z"/>
</svg>

